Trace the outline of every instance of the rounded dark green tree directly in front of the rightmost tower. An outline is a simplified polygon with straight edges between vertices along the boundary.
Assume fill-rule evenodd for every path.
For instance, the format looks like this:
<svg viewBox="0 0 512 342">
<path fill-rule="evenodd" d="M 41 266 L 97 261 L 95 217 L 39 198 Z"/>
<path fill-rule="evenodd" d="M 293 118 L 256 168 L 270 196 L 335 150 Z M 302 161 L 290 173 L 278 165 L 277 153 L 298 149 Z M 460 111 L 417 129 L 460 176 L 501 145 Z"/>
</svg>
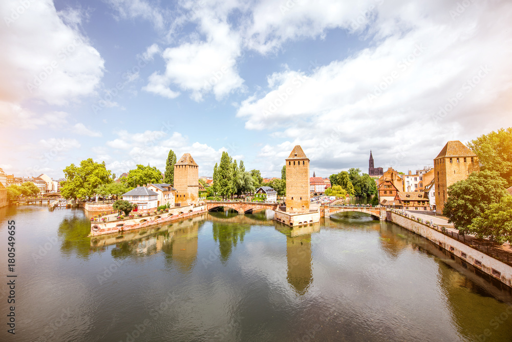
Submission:
<svg viewBox="0 0 512 342">
<path fill-rule="evenodd" d="M 477 234 L 471 227 L 473 219 L 508 194 L 505 186 L 506 181 L 497 172 L 473 172 L 467 179 L 459 180 L 448 188 L 443 215 L 461 233 Z"/>
</svg>

